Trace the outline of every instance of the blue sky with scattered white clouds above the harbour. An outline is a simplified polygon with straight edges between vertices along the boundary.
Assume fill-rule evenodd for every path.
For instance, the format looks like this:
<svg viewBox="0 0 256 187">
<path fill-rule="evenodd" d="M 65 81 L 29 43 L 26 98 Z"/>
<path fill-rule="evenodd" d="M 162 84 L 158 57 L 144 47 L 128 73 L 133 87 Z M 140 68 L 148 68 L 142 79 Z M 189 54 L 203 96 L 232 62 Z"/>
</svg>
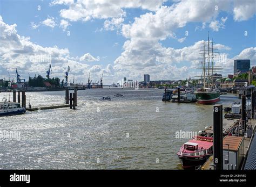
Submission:
<svg viewBox="0 0 256 187">
<path fill-rule="evenodd" d="M 196 78 L 208 33 L 227 76 L 234 59 L 256 64 L 255 12 L 254 0 L 0 0 L 0 78 L 45 77 L 49 64 L 84 84 Z"/>
</svg>

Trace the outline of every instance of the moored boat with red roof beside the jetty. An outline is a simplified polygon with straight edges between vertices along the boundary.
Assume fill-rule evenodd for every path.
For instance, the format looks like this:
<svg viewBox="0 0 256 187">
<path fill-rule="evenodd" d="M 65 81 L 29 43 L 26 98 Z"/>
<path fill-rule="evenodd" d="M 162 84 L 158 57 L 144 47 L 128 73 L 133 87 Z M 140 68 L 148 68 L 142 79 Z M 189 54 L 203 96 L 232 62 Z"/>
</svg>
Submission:
<svg viewBox="0 0 256 187">
<path fill-rule="evenodd" d="M 213 138 L 195 136 L 193 139 L 184 143 L 177 153 L 182 167 L 196 168 L 201 166 L 213 153 Z"/>
</svg>

